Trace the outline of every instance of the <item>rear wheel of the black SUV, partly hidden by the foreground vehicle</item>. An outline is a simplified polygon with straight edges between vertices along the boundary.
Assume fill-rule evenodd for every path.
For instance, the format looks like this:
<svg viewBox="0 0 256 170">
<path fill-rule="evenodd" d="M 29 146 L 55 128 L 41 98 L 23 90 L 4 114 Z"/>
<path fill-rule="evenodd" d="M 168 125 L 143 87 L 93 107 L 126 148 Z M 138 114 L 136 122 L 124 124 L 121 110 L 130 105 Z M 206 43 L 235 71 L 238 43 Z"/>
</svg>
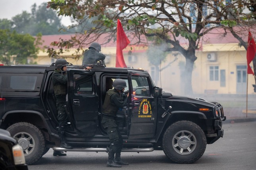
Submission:
<svg viewBox="0 0 256 170">
<path fill-rule="evenodd" d="M 37 126 L 27 122 L 19 122 L 11 125 L 7 130 L 23 148 L 27 164 L 34 164 L 42 157 L 45 151 L 45 139 Z"/>
</svg>

